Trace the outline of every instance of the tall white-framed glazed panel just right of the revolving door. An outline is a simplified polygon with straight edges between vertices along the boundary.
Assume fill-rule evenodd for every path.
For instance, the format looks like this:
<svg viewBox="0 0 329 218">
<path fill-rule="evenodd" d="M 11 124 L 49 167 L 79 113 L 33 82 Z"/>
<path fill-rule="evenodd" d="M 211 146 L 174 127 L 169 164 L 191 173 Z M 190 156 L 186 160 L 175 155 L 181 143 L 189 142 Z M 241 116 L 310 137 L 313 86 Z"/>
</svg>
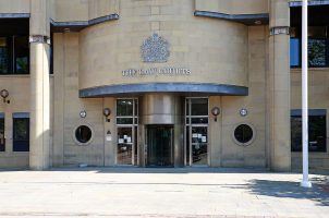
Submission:
<svg viewBox="0 0 329 218">
<path fill-rule="evenodd" d="M 186 98 L 185 165 L 208 165 L 208 98 Z"/>
</svg>

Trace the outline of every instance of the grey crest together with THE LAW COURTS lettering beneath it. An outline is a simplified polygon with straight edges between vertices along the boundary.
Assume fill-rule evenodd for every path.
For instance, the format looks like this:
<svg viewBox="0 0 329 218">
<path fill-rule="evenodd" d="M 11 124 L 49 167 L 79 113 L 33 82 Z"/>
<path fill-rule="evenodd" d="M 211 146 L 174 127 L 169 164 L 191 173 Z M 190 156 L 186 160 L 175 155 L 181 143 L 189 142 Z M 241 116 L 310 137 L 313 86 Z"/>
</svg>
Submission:
<svg viewBox="0 0 329 218">
<path fill-rule="evenodd" d="M 169 43 L 158 34 L 148 37 L 141 46 L 141 57 L 145 63 L 166 63 L 170 57 Z M 190 75 L 191 70 L 186 68 L 149 68 L 127 69 L 122 71 L 122 76 L 151 76 L 151 75 Z"/>
</svg>

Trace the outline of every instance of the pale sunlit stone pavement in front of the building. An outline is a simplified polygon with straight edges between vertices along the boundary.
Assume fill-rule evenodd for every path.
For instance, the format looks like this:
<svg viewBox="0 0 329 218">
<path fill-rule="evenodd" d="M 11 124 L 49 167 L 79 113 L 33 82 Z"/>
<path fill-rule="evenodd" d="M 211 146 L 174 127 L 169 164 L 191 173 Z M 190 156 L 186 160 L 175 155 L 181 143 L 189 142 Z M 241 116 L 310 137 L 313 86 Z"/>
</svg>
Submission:
<svg viewBox="0 0 329 218">
<path fill-rule="evenodd" d="M 0 171 L 0 217 L 329 217 L 329 178 L 212 168 Z"/>
</svg>

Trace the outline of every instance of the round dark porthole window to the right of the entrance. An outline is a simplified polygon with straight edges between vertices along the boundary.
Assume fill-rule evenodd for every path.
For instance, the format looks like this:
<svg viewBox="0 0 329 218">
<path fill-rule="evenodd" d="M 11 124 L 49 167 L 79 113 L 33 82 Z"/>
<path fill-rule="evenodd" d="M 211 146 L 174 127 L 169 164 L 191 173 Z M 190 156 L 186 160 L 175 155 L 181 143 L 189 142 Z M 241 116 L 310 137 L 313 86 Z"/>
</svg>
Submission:
<svg viewBox="0 0 329 218">
<path fill-rule="evenodd" d="M 233 138 L 236 144 L 247 146 L 253 143 L 255 138 L 255 131 L 252 125 L 240 124 L 235 128 Z"/>
</svg>

